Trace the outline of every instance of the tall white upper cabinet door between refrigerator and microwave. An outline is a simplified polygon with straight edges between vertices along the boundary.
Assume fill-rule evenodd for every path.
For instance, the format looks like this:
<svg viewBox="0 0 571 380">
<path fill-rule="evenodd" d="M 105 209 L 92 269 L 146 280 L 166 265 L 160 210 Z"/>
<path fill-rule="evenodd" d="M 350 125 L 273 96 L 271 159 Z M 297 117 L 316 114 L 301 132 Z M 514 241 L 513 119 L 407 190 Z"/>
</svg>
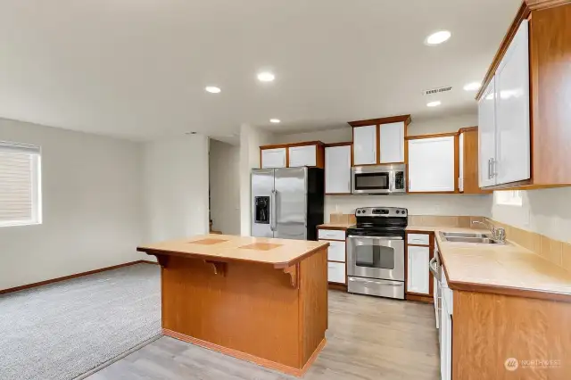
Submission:
<svg viewBox="0 0 571 380">
<path fill-rule="evenodd" d="M 325 148 L 326 194 L 351 194 L 351 145 Z"/>
</svg>

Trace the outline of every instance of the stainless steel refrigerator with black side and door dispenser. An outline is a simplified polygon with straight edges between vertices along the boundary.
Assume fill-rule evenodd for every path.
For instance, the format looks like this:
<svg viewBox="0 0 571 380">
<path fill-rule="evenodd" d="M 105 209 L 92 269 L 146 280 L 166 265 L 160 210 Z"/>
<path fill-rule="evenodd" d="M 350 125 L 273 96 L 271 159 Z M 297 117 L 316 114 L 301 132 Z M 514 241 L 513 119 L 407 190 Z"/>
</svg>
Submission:
<svg viewBox="0 0 571 380">
<path fill-rule="evenodd" d="M 318 168 L 252 169 L 252 236 L 317 240 L 324 180 Z"/>
</svg>

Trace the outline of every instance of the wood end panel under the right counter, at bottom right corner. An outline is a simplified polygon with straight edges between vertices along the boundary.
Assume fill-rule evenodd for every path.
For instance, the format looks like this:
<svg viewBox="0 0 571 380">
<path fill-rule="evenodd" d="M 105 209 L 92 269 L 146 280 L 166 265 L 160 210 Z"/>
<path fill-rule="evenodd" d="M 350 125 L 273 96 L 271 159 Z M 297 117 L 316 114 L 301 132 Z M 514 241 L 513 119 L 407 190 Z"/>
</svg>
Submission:
<svg viewBox="0 0 571 380">
<path fill-rule="evenodd" d="M 568 380 L 571 303 L 454 292 L 452 378 Z M 505 362 L 553 360 L 553 367 L 509 371 Z"/>
</svg>

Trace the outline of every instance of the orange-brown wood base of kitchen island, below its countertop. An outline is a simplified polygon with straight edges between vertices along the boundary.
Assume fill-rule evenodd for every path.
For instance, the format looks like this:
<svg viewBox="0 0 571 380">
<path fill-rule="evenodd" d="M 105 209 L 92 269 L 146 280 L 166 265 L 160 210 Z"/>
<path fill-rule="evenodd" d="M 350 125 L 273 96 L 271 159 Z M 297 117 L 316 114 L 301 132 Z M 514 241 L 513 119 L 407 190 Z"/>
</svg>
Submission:
<svg viewBox="0 0 571 380">
<path fill-rule="evenodd" d="M 157 254 L 163 334 L 294 376 L 310 368 L 327 330 L 327 246 L 293 267 Z"/>
</svg>

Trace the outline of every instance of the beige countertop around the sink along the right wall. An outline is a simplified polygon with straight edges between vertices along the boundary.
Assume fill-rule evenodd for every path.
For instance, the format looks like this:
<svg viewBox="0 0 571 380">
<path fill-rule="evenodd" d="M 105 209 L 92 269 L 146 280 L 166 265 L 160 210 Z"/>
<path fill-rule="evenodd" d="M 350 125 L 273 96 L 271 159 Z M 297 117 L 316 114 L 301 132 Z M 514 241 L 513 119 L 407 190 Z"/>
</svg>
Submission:
<svg viewBox="0 0 571 380">
<path fill-rule="evenodd" d="M 511 242 L 451 243 L 444 242 L 439 234 L 489 233 L 486 230 L 415 226 L 407 229 L 434 232 L 451 289 L 571 302 L 571 273 L 542 256 Z"/>
</svg>

